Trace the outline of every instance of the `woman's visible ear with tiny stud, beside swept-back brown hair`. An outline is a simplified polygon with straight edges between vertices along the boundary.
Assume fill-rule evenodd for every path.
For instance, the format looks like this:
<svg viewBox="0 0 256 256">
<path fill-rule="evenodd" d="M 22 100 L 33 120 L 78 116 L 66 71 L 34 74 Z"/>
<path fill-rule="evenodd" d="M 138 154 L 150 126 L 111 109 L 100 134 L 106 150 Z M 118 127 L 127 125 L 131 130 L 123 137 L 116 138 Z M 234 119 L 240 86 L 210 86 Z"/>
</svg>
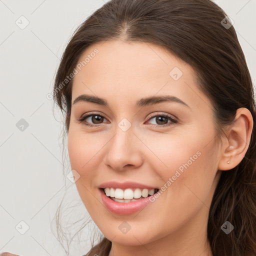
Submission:
<svg viewBox="0 0 256 256">
<path fill-rule="evenodd" d="M 234 123 L 228 128 L 222 144 L 219 170 L 229 170 L 240 163 L 249 147 L 252 127 L 253 118 L 250 111 L 244 107 L 238 108 Z"/>
</svg>

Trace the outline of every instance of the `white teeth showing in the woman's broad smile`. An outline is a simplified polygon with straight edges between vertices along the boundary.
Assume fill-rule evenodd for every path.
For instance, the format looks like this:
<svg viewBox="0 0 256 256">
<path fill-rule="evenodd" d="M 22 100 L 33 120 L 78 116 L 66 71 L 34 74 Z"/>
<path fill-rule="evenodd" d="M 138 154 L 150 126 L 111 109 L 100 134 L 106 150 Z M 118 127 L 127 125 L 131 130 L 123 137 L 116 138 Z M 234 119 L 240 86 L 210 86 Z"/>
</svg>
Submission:
<svg viewBox="0 0 256 256">
<path fill-rule="evenodd" d="M 158 189 L 157 189 L 158 190 Z M 114 197 L 116 199 L 138 199 L 141 196 L 147 197 L 148 195 L 152 195 L 155 192 L 154 188 L 147 189 L 147 188 L 113 188 L 113 187 L 106 187 L 104 188 L 106 196 Z M 122 200 L 124 201 L 124 200 Z M 128 201 L 127 201 L 128 202 Z"/>
</svg>

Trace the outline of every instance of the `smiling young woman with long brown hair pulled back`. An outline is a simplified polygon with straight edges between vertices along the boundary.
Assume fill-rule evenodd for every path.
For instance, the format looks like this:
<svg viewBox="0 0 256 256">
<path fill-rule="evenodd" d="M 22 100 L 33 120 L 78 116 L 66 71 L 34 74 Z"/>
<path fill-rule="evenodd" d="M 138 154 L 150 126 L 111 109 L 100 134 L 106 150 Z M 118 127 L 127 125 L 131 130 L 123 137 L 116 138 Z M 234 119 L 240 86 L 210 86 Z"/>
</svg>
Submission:
<svg viewBox="0 0 256 256">
<path fill-rule="evenodd" d="M 110 0 L 70 39 L 53 96 L 104 238 L 87 256 L 256 255 L 255 101 L 210 0 Z"/>
</svg>

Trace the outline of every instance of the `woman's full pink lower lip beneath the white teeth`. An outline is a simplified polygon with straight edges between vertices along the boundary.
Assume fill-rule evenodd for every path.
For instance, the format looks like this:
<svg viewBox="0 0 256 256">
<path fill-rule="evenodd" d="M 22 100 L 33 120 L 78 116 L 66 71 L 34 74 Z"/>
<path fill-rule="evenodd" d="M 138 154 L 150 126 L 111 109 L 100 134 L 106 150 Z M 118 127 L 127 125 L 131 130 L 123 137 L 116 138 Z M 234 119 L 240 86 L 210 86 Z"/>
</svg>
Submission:
<svg viewBox="0 0 256 256">
<path fill-rule="evenodd" d="M 120 214 L 120 215 L 131 214 L 143 209 L 148 203 L 151 202 L 149 199 L 154 196 L 154 195 L 150 195 L 148 197 L 145 197 L 143 199 L 139 199 L 133 202 L 116 202 L 110 199 L 108 196 L 106 196 L 102 189 L 99 189 L 99 192 L 100 192 L 102 201 L 107 207 L 107 209 L 113 213 Z"/>
</svg>

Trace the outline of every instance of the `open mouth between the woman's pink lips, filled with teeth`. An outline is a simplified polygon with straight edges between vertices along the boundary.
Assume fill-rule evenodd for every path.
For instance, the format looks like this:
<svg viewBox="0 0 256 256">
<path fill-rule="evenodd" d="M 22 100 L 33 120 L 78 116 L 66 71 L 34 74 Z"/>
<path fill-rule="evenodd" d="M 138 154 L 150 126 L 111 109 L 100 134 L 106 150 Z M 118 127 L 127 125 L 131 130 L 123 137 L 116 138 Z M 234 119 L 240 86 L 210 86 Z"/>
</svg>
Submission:
<svg viewBox="0 0 256 256">
<path fill-rule="evenodd" d="M 133 202 L 149 197 L 159 191 L 158 188 L 99 188 L 108 198 L 116 202 Z"/>
</svg>

